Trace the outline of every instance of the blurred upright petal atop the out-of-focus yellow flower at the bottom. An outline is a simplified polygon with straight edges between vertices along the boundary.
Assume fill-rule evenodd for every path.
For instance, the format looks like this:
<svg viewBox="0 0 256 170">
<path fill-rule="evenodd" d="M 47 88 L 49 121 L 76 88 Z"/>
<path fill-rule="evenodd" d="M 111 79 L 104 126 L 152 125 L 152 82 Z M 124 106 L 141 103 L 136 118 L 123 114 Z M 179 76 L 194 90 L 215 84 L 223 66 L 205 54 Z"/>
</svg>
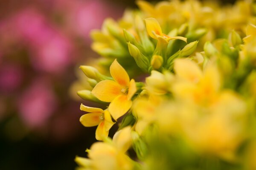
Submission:
<svg viewBox="0 0 256 170">
<path fill-rule="evenodd" d="M 125 153 L 131 146 L 131 127 L 127 126 L 122 130 L 119 130 L 113 136 L 113 144 L 117 149 Z"/>
</svg>

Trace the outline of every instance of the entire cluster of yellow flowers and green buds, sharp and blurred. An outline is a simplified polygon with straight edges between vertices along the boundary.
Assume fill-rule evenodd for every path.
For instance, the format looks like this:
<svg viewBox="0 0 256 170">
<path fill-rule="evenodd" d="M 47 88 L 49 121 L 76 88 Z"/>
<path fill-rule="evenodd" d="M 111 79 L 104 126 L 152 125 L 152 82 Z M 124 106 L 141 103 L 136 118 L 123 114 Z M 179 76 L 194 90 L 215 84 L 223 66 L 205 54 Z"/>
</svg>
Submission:
<svg viewBox="0 0 256 170">
<path fill-rule="evenodd" d="M 104 58 L 78 95 L 105 111 L 81 105 L 102 142 L 79 169 L 256 169 L 256 3 L 137 4 L 92 32 Z"/>
</svg>

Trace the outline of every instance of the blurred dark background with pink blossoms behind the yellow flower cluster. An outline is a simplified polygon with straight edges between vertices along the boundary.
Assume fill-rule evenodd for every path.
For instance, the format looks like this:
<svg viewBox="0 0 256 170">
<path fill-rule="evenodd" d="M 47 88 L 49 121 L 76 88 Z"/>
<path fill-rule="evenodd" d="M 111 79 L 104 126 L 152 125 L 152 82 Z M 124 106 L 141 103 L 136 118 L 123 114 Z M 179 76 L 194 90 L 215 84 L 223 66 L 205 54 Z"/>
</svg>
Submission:
<svg viewBox="0 0 256 170">
<path fill-rule="evenodd" d="M 86 156 L 96 127 L 80 124 L 70 87 L 97 57 L 90 30 L 125 8 L 134 0 L 0 1 L 0 170 L 73 170 Z"/>
</svg>

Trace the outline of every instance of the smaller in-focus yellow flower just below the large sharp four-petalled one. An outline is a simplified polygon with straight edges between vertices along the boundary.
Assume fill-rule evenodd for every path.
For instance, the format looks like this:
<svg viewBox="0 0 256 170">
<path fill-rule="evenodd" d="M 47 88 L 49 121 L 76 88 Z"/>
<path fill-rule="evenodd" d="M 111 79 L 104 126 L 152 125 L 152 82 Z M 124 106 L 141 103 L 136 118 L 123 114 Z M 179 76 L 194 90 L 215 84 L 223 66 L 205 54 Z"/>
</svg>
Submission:
<svg viewBox="0 0 256 170">
<path fill-rule="evenodd" d="M 85 127 L 98 125 L 96 129 L 96 139 L 102 141 L 108 137 L 110 128 L 115 124 L 108 110 L 103 111 L 101 108 L 91 108 L 81 104 L 81 111 L 89 112 L 80 117 L 80 122 Z"/>
</svg>

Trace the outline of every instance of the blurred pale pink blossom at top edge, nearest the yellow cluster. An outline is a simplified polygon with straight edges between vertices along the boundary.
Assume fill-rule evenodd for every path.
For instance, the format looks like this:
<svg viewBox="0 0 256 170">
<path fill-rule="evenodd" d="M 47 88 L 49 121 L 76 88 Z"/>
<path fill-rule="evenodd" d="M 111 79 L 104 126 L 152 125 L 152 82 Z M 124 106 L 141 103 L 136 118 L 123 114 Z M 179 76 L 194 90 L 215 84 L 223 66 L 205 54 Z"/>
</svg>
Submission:
<svg viewBox="0 0 256 170">
<path fill-rule="evenodd" d="M 90 31 L 100 28 L 106 17 L 118 17 L 122 9 L 105 0 L 55 0 L 60 10 L 65 10 L 66 25 L 72 33 L 90 42 Z"/>
</svg>

